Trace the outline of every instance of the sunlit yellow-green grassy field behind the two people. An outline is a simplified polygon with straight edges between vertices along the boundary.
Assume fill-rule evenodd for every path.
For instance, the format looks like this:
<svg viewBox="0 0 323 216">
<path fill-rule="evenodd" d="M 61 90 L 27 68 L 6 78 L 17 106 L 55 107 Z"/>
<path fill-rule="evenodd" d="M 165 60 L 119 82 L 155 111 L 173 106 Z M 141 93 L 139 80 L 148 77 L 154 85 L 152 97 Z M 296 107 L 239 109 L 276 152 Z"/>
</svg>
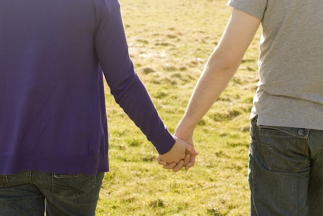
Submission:
<svg viewBox="0 0 323 216">
<path fill-rule="evenodd" d="M 174 133 L 232 9 L 227 0 L 120 0 L 130 56 Z M 249 114 L 258 81 L 261 29 L 226 91 L 194 133 L 196 165 L 178 173 L 157 152 L 106 87 L 110 170 L 97 215 L 248 215 Z"/>
</svg>

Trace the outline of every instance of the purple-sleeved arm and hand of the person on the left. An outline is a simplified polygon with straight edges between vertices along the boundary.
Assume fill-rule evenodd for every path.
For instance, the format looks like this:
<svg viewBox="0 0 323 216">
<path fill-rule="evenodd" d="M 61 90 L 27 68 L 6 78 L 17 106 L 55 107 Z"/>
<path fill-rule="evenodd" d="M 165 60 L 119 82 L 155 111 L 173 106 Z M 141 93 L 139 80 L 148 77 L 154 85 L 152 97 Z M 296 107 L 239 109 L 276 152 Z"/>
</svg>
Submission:
<svg viewBox="0 0 323 216">
<path fill-rule="evenodd" d="M 170 134 L 136 74 L 129 57 L 119 2 L 98 1 L 95 9 L 95 50 L 111 93 L 158 153 L 168 156 L 164 157 L 168 163 L 179 163 L 186 156 L 185 150 L 195 152 Z"/>
</svg>

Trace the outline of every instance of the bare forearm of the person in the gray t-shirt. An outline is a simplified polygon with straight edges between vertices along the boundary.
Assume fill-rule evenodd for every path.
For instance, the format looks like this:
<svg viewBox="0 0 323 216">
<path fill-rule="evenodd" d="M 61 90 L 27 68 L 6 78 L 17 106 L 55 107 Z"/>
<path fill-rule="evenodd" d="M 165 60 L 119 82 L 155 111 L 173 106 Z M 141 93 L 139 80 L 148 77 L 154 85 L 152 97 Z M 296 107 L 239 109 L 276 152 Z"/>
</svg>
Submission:
<svg viewBox="0 0 323 216">
<path fill-rule="evenodd" d="M 211 105 L 218 99 L 236 73 L 261 20 L 233 9 L 227 28 L 208 59 L 175 136 L 193 145 L 193 132 Z M 194 165 L 195 155 L 185 166 Z"/>
</svg>

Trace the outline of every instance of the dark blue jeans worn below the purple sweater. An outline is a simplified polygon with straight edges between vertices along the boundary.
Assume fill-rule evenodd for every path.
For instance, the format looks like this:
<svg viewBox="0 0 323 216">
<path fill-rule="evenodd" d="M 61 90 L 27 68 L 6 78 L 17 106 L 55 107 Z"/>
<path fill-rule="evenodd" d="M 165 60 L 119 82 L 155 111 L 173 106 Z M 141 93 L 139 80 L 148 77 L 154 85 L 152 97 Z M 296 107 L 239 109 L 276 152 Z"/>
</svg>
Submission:
<svg viewBox="0 0 323 216">
<path fill-rule="evenodd" d="M 0 175 L 0 215 L 95 215 L 104 173 Z M 46 205 L 45 205 L 46 203 Z"/>
</svg>

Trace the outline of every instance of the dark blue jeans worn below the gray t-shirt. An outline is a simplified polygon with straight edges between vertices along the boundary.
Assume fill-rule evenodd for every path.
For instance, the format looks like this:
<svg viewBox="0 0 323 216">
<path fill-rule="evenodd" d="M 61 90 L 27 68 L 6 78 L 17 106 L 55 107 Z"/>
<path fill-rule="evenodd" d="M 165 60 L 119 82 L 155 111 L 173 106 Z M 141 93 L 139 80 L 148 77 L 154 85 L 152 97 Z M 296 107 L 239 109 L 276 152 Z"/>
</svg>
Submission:
<svg viewBox="0 0 323 216">
<path fill-rule="evenodd" d="M 251 215 L 323 215 L 323 131 L 250 124 Z"/>
</svg>

